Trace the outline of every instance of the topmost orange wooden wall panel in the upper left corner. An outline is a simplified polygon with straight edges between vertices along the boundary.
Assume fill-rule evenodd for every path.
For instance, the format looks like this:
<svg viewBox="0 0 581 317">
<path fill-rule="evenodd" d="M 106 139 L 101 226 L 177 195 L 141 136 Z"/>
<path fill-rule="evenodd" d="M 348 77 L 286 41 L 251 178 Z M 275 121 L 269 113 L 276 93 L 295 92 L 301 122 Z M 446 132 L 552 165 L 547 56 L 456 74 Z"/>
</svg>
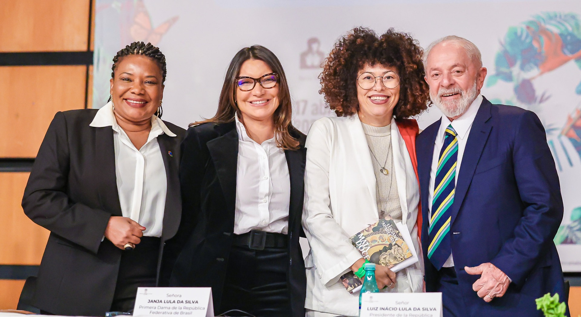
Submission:
<svg viewBox="0 0 581 317">
<path fill-rule="evenodd" d="M 89 1 L 0 1 L 0 52 L 87 51 Z"/>
</svg>

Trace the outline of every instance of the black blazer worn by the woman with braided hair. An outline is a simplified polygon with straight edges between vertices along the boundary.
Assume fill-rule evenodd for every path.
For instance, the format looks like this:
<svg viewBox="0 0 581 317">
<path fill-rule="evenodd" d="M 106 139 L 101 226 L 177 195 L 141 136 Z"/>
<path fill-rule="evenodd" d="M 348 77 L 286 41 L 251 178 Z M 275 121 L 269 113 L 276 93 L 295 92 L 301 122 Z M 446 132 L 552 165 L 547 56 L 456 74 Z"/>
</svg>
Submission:
<svg viewBox="0 0 581 317">
<path fill-rule="evenodd" d="M 56 113 L 24 189 L 24 213 L 51 231 L 33 305 L 53 314 L 103 316 L 113 301 L 124 252 L 101 241 L 109 218 L 122 214 L 113 129 L 90 127 L 96 112 Z M 157 137 L 167 175 L 162 241 L 174 236 L 180 223 L 178 163 L 185 135 L 177 125 L 166 125 L 177 136 Z"/>
</svg>

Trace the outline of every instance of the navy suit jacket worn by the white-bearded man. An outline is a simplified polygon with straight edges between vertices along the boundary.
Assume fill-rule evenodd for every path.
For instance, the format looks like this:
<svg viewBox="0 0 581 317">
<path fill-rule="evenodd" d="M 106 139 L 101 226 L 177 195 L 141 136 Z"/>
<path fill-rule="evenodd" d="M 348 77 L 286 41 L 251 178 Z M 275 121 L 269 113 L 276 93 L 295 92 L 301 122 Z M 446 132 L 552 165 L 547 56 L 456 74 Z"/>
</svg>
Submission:
<svg viewBox="0 0 581 317">
<path fill-rule="evenodd" d="M 427 257 L 428 188 L 440 121 L 418 135 L 426 291 L 438 272 Z M 541 316 L 535 298 L 564 298 L 561 262 L 553 237 L 563 202 L 543 125 L 532 111 L 483 99 L 468 136 L 451 207 L 451 248 L 466 316 Z M 472 290 L 480 275 L 464 266 L 491 262 L 512 279 L 506 294 L 486 303 Z M 444 303 L 445 305 L 445 303 Z"/>
</svg>

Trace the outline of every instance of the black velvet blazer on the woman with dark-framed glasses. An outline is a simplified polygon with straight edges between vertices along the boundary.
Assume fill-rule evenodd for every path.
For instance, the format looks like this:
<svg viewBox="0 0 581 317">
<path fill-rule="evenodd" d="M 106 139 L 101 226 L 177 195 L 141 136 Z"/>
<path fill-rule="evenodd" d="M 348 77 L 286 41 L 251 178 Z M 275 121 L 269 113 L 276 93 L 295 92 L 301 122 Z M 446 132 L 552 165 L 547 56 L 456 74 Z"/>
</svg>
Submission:
<svg viewBox="0 0 581 317">
<path fill-rule="evenodd" d="M 306 136 L 296 129 L 291 135 L 299 140 L 300 149 L 285 150 L 290 175 L 287 279 L 292 315 L 304 316 L 306 274 L 299 236 L 304 236 L 301 216 Z M 188 129 L 182 142 L 180 164 L 182 222 L 178 234 L 168 242 L 163 271 L 169 278 L 173 267 L 170 286 L 212 287 L 216 312 L 220 311 L 232 247 L 237 162 L 238 132 L 234 121 L 201 124 Z"/>
</svg>

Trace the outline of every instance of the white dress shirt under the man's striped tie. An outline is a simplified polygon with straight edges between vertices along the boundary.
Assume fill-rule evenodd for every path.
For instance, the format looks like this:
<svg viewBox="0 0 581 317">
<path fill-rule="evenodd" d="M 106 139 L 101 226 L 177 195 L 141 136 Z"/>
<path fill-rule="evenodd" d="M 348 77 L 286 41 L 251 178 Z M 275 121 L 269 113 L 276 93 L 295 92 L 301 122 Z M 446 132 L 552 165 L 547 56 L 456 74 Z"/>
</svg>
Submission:
<svg viewBox="0 0 581 317">
<path fill-rule="evenodd" d="M 432 170 L 430 171 L 430 187 L 429 187 L 429 197 L 428 197 L 428 208 L 429 208 L 429 219 L 432 218 L 432 198 L 434 194 L 434 182 L 436 179 L 437 171 L 437 161 L 440 157 L 440 151 L 442 150 L 442 145 L 444 144 L 444 135 L 448 125 L 452 124 L 454 131 L 456 131 L 456 138 L 458 139 L 458 159 L 456 163 L 456 178 L 454 179 L 454 185 L 458 182 L 458 174 L 460 174 L 460 166 L 462 164 L 462 156 L 464 156 L 464 149 L 466 148 L 466 141 L 468 141 L 468 135 L 470 134 L 470 129 L 472 128 L 472 123 L 480 109 L 480 104 L 482 103 L 482 95 L 476 96 L 476 99 L 470 104 L 468 110 L 462 116 L 458 117 L 454 121 L 446 116 L 442 116 L 442 122 L 440 123 L 440 129 L 437 131 L 436 141 L 434 142 L 434 153 L 432 156 Z M 453 235 L 453 232 L 449 232 L 449 235 Z M 454 258 L 452 254 L 446 262 L 444 262 L 444 268 L 449 268 L 454 266 Z"/>
</svg>

